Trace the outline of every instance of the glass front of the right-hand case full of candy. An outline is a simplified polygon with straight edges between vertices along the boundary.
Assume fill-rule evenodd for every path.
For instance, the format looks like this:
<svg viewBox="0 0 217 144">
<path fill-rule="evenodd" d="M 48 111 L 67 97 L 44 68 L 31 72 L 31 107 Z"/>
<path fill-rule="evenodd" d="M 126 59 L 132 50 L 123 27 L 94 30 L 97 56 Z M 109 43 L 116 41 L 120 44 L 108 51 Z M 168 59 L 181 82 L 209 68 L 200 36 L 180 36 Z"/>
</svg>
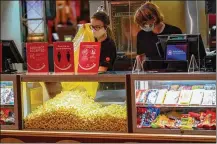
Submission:
<svg viewBox="0 0 217 144">
<path fill-rule="evenodd" d="M 216 129 L 215 81 L 135 81 L 137 128 Z"/>
</svg>

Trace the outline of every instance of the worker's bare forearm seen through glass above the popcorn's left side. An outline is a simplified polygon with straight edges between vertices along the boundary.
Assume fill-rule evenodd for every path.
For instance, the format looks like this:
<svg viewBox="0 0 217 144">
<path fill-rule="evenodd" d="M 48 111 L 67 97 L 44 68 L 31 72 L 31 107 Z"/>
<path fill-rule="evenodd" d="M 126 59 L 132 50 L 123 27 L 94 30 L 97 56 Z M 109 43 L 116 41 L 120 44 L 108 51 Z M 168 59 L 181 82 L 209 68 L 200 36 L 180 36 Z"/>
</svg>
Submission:
<svg viewBox="0 0 217 144">
<path fill-rule="evenodd" d="M 55 97 L 62 91 L 62 85 L 60 82 L 45 82 L 45 86 L 50 98 Z"/>
</svg>

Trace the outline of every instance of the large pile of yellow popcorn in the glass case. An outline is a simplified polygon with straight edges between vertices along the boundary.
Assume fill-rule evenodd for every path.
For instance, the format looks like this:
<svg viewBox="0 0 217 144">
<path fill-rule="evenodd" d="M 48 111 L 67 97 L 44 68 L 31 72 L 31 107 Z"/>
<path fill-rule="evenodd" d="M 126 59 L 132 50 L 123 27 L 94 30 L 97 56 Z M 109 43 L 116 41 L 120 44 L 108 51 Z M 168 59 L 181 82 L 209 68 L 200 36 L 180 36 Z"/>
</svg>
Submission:
<svg viewBox="0 0 217 144">
<path fill-rule="evenodd" d="M 126 105 L 103 107 L 86 91 L 65 91 L 24 119 L 25 128 L 127 132 Z"/>
</svg>

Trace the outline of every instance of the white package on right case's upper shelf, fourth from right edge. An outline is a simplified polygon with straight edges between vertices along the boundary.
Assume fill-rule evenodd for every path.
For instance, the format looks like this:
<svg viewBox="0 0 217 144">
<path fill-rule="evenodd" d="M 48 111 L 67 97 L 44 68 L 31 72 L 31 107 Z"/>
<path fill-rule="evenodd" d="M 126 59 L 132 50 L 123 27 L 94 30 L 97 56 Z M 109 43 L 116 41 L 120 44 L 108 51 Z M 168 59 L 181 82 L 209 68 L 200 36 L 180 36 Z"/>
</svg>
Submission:
<svg viewBox="0 0 217 144">
<path fill-rule="evenodd" d="M 179 94 L 180 91 L 168 91 L 164 100 L 164 104 L 177 104 L 179 100 Z"/>
</svg>

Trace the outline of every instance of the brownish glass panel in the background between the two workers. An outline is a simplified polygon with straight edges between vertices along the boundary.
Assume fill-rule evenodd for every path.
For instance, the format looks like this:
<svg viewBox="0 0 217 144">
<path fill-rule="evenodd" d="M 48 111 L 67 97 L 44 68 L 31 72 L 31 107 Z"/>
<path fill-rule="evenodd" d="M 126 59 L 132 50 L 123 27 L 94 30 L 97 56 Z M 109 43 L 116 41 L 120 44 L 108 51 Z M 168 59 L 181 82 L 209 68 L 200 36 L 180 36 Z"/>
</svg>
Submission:
<svg viewBox="0 0 217 144">
<path fill-rule="evenodd" d="M 139 27 L 134 23 L 134 13 L 142 2 L 111 4 L 111 21 L 118 52 L 136 52 L 136 36 Z"/>
</svg>

